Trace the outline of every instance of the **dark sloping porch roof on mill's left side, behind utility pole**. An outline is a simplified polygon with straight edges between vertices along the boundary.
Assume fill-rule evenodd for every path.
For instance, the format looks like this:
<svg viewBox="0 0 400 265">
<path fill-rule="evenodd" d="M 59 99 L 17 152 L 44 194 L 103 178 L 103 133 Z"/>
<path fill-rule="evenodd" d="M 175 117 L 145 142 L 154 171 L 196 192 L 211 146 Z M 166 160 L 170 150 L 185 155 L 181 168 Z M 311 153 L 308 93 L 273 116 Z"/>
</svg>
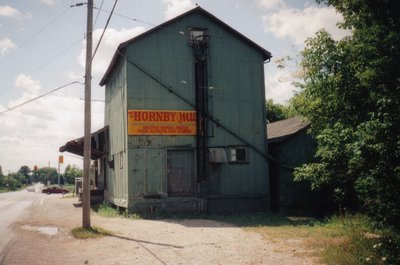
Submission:
<svg viewBox="0 0 400 265">
<path fill-rule="evenodd" d="M 91 159 L 102 158 L 106 154 L 108 146 L 108 126 L 92 133 L 91 142 Z M 83 137 L 67 142 L 59 150 L 60 152 L 70 152 L 83 157 Z"/>
</svg>

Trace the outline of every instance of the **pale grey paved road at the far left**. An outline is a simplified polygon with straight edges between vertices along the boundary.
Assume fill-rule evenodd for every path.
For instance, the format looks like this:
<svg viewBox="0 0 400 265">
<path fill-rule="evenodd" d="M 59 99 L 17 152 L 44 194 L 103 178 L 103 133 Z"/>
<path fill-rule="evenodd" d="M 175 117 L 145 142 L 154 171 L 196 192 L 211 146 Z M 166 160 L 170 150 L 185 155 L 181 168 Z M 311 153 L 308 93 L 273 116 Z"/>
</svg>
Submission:
<svg viewBox="0 0 400 265">
<path fill-rule="evenodd" d="M 46 194 L 40 192 L 39 186 L 35 188 L 36 192 L 22 190 L 0 193 L 0 264 L 3 252 L 13 238 L 10 226 L 23 218 L 32 204 L 43 204 L 46 199 Z"/>
</svg>

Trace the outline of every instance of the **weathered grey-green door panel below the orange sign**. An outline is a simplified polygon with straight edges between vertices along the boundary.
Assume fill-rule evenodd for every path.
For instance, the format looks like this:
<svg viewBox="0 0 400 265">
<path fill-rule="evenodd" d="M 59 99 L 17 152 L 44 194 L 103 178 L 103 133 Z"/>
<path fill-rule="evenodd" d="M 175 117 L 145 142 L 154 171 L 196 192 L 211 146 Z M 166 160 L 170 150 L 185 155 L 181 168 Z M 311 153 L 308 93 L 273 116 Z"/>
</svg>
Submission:
<svg viewBox="0 0 400 265">
<path fill-rule="evenodd" d="M 194 193 L 195 163 L 193 150 L 167 151 L 167 187 L 169 196 Z"/>
</svg>

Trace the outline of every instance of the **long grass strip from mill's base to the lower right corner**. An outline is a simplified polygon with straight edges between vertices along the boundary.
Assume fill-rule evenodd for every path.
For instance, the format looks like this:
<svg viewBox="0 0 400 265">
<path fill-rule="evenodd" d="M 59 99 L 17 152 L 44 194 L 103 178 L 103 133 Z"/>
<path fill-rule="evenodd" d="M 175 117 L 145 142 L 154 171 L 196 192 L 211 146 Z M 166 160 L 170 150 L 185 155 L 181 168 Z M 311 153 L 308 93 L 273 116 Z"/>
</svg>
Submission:
<svg viewBox="0 0 400 265">
<path fill-rule="evenodd" d="M 394 265 L 400 264 L 400 236 L 390 229 L 376 229 L 365 215 L 311 217 L 284 216 L 272 213 L 212 215 L 207 213 L 130 214 L 103 203 L 93 208 L 103 217 L 131 219 L 207 219 L 238 226 L 260 234 L 272 242 L 296 241 L 307 255 L 327 265 Z M 394 254 L 393 254 L 394 253 Z"/>
</svg>

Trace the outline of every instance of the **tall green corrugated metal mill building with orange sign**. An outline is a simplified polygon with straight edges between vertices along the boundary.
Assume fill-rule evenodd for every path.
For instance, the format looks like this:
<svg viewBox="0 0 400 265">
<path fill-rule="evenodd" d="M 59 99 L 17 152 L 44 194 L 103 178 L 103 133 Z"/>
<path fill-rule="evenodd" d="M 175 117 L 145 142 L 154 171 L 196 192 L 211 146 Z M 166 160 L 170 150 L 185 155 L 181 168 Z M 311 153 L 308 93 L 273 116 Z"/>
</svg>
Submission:
<svg viewBox="0 0 400 265">
<path fill-rule="evenodd" d="M 142 212 L 269 209 L 270 58 L 200 7 L 120 44 L 100 83 L 105 199 Z"/>
</svg>

